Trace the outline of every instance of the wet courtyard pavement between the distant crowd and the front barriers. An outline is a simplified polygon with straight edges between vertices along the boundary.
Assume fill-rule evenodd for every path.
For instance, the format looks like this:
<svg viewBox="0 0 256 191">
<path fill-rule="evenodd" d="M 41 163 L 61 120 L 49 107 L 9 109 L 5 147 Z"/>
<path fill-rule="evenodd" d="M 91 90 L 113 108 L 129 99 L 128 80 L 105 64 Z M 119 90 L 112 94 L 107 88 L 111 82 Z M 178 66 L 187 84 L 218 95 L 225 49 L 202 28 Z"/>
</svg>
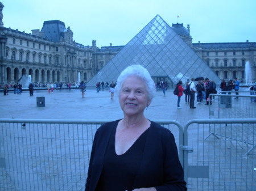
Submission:
<svg viewBox="0 0 256 191">
<path fill-rule="evenodd" d="M 177 96 L 174 90 L 156 91 L 151 105 L 145 110 L 145 116 L 150 120 L 176 120 L 184 125 L 195 118 L 209 118 L 208 105 L 196 104 L 196 109 L 189 108 L 185 103 L 185 95 L 181 96 L 180 106 L 177 109 Z M 28 91 L 22 94 L 4 96 L 1 92 L 0 118 L 28 118 L 28 119 L 71 119 L 71 120 L 117 120 L 123 117 L 119 107 L 118 97 L 110 99 L 109 90 L 97 93 L 96 88 L 87 88 L 85 97 L 81 97 L 79 89 L 54 90 L 48 94 L 47 90 L 36 90 L 34 96 Z M 36 97 L 45 97 L 45 107 L 37 107 Z"/>
</svg>

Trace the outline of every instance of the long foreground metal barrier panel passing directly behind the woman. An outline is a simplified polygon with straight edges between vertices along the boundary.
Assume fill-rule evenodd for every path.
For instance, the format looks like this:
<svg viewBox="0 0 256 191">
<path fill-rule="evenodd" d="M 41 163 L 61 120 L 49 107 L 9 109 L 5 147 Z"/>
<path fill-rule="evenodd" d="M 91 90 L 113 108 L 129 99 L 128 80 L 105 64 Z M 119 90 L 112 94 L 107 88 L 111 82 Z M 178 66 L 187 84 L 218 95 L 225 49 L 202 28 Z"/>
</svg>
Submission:
<svg viewBox="0 0 256 191">
<path fill-rule="evenodd" d="M 0 119 L 0 190 L 84 190 L 94 134 L 109 121 Z M 179 122 L 155 122 L 183 143 Z"/>
</svg>

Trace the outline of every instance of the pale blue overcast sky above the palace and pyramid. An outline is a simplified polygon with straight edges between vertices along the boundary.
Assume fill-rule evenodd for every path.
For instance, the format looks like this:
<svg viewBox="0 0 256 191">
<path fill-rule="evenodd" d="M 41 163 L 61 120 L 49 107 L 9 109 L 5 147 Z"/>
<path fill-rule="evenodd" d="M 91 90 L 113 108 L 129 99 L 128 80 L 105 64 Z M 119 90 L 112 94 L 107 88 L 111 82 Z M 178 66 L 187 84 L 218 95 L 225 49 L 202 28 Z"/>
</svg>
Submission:
<svg viewBox="0 0 256 191">
<path fill-rule="evenodd" d="M 0 0 L 4 27 L 30 33 L 60 20 L 83 45 L 126 45 L 156 15 L 183 23 L 193 43 L 256 42 L 256 0 Z M 177 15 L 179 19 L 177 20 Z"/>
</svg>

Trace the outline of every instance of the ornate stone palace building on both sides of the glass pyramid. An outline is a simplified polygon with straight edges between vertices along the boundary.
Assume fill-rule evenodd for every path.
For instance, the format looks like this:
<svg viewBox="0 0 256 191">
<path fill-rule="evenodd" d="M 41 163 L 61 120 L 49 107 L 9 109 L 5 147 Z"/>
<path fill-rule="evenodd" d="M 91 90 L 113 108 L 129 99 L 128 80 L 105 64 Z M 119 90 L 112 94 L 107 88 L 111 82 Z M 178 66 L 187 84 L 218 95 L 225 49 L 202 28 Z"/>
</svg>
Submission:
<svg viewBox="0 0 256 191">
<path fill-rule="evenodd" d="M 0 84 L 14 84 L 25 75 L 32 83 L 88 82 L 122 50 L 122 46 L 102 46 L 96 40 L 82 45 L 73 39 L 71 27 L 60 20 L 43 23 L 31 33 L 4 27 L 4 5 L 0 2 Z M 256 43 L 192 43 L 189 25 L 171 27 L 220 79 L 238 78 L 245 82 L 245 65 L 249 61 L 256 81 Z"/>
</svg>

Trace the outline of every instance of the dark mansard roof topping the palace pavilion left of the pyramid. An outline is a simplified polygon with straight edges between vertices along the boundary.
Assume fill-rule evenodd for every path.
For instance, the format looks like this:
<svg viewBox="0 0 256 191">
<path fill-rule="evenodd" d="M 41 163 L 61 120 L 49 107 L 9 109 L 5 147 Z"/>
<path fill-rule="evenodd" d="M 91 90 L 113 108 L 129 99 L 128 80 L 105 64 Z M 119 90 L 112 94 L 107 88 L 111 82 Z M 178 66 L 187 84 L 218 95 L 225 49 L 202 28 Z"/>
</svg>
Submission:
<svg viewBox="0 0 256 191">
<path fill-rule="evenodd" d="M 59 42 L 61 32 L 66 29 L 65 23 L 60 20 L 45 21 L 41 31 L 44 31 L 44 37 L 47 37 L 53 42 Z"/>
</svg>

